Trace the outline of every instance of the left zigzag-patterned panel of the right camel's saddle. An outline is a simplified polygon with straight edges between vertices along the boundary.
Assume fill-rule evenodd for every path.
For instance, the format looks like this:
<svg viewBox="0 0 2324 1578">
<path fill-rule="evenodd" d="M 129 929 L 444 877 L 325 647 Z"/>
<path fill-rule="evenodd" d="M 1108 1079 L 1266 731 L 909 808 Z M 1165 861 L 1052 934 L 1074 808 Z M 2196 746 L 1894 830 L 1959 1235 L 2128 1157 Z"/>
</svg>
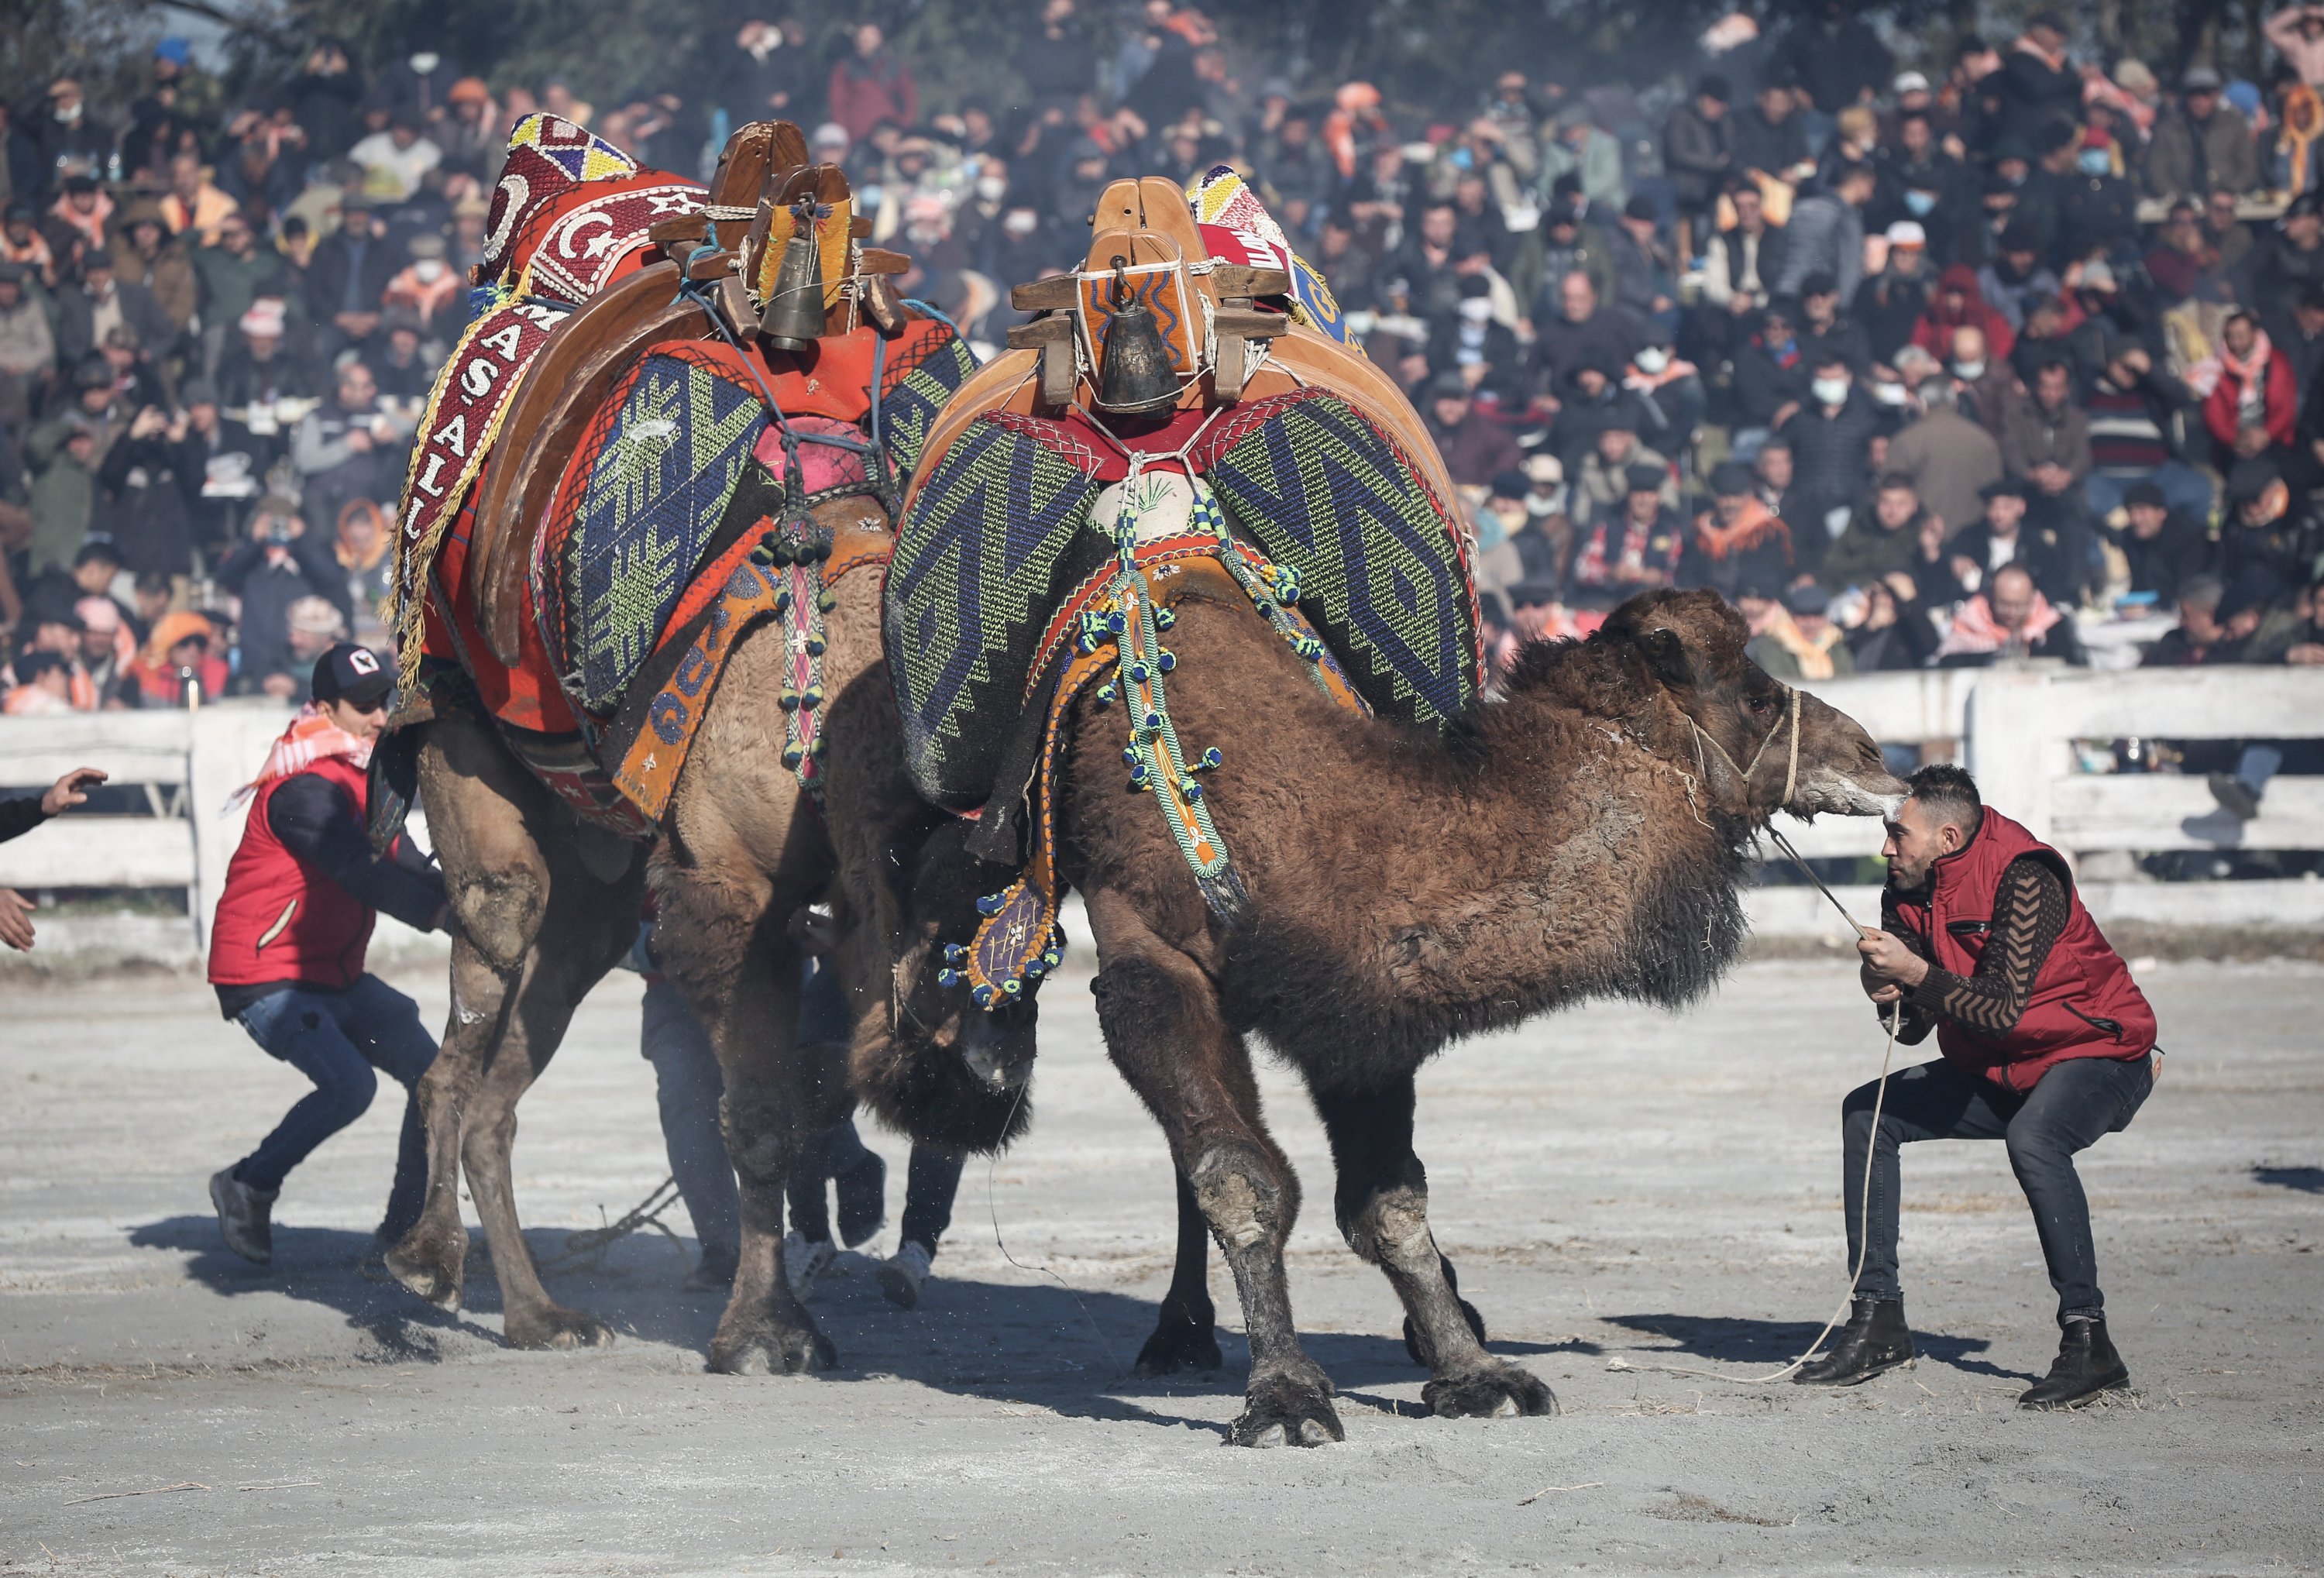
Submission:
<svg viewBox="0 0 2324 1578">
<path fill-rule="evenodd" d="M 992 411 L 918 481 L 883 637 L 904 760 L 934 804 L 990 792 L 1050 609 L 1113 546 L 1085 530 L 1099 456 L 1062 423 Z"/>
</svg>

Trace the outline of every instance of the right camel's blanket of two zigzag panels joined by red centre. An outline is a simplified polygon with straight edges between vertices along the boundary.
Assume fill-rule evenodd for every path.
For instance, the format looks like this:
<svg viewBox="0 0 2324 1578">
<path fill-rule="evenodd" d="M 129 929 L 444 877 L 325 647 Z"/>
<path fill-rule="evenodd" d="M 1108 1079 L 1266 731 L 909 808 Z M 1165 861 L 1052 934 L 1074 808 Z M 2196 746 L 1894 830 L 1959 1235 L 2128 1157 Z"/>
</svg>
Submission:
<svg viewBox="0 0 2324 1578">
<path fill-rule="evenodd" d="M 1078 414 L 988 411 L 916 481 L 888 569 L 888 674 L 913 783 L 934 804 L 967 811 L 1013 792 L 1002 760 L 1071 637 L 1060 611 L 1116 560 L 1132 456 L 1139 486 L 1169 472 L 1199 481 L 1176 507 L 1155 504 L 1139 541 L 1181 535 L 1190 509 L 1215 500 L 1206 551 L 1234 544 L 1287 572 L 1373 711 L 1441 727 L 1476 700 L 1480 630 L 1452 502 L 1343 395 L 1181 411 L 1141 439 Z"/>
</svg>

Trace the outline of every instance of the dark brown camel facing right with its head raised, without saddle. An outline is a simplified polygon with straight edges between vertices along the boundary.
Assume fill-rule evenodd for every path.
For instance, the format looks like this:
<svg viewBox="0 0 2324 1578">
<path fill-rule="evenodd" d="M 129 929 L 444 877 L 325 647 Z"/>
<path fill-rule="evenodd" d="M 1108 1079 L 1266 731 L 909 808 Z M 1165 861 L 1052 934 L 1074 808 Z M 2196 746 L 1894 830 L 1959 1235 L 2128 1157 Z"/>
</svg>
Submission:
<svg viewBox="0 0 2324 1578">
<path fill-rule="evenodd" d="M 1218 1364 L 1208 1232 L 1250 1336 L 1229 1439 L 1341 1439 L 1332 1380 L 1292 1325 L 1299 1181 L 1260 1116 L 1257 1034 L 1306 1076 L 1339 1227 L 1404 1301 L 1429 1406 L 1552 1413 L 1538 1378 L 1485 1350 L 1436 1253 L 1413 1074 L 1457 1037 L 1585 997 L 1701 997 L 1743 944 L 1752 830 L 1776 809 L 1878 813 L 1903 786 L 1862 727 L 1743 655 L 1743 621 L 1713 593 L 1641 595 L 1590 641 L 1529 648 L 1508 695 L 1446 737 L 1334 706 L 1250 611 L 1178 614 L 1171 713 L 1188 748 L 1225 755 L 1208 802 L 1243 920 L 1213 918 L 1162 816 L 1125 792 L 1118 709 L 1076 706 L 1057 790 L 1106 1050 L 1181 1178 L 1178 1278 L 1141 1367 Z M 906 946 L 904 969 L 932 974 L 927 937 Z M 878 1030 L 860 1025 L 855 1074 L 895 1113 L 916 1060 Z"/>
</svg>

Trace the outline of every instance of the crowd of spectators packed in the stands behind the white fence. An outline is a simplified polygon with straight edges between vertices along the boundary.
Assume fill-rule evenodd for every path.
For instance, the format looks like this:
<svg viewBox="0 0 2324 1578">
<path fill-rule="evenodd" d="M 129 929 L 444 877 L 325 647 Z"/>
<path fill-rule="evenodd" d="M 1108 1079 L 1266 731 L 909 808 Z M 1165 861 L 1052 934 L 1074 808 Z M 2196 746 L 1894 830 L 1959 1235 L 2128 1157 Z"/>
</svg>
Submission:
<svg viewBox="0 0 2324 1578">
<path fill-rule="evenodd" d="M 1436 432 L 1501 655 L 1710 586 L 1780 676 L 2324 660 L 2324 5 L 2268 19 L 2257 81 L 2078 56 L 2057 14 L 1899 70 L 1834 2 L 1657 81 L 1439 105 L 1269 74 L 1174 0 L 1104 21 L 1030 5 L 1013 105 L 779 19 L 607 105 L 335 40 L 232 102 L 165 40 L 132 102 L 9 107 L 5 706 L 293 697 L 386 641 L 411 428 L 532 109 L 695 177 L 799 121 L 985 344 L 1109 179 L 1239 165 Z"/>
</svg>

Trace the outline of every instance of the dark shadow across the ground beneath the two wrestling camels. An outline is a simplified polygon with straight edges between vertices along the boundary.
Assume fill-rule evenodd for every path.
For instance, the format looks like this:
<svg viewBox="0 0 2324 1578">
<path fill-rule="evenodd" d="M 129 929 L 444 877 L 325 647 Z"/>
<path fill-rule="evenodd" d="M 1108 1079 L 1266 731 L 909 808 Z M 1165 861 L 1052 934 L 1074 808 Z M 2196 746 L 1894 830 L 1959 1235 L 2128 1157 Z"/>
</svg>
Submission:
<svg viewBox="0 0 2324 1578">
<path fill-rule="evenodd" d="M 486 1255 L 469 1255 L 465 1306 L 439 1311 L 381 1271 L 358 1271 L 372 1236 L 335 1227 L 274 1227 L 274 1262 L 253 1267 L 218 1243 L 209 1215 L 172 1215 L 130 1229 L 139 1248 L 186 1253 L 186 1276 L 221 1297 L 272 1292 L 318 1304 L 346 1318 L 358 1334 L 356 1360 L 376 1364 L 428 1364 L 488 1353 L 500 1339 L 500 1290 Z M 565 1253 L 565 1232 L 528 1234 L 539 1260 Z M 686 1290 L 693 1264 L 669 1239 L 632 1236 L 614 1243 L 595 1269 L 548 1274 L 558 1299 L 586 1308 L 618 1336 L 667 1343 L 700 1355 L 709 1350 L 725 1292 Z M 1239 1332 L 1220 1332 L 1222 1367 L 1164 1378 L 1132 1373 L 1139 1348 L 1155 1329 L 1155 1304 L 1104 1290 L 1076 1290 L 1053 1278 L 1032 1283 L 985 1283 L 930 1278 L 918 1308 L 902 1311 L 878 1290 L 874 1262 L 841 1255 L 816 1283 L 809 1301 L 823 1332 L 839 1348 L 830 1380 L 897 1376 L 944 1392 L 999 1401 L 1039 1404 L 1055 1413 L 1190 1429 L 1222 1432 L 1218 1418 L 1190 1418 L 1169 1408 L 1171 1397 L 1239 1394 L 1250 1350 Z M 1329 1371 L 1341 1394 L 1387 1413 L 1415 1413 L 1413 1397 L 1385 1397 L 1376 1387 L 1418 1387 L 1427 1371 L 1413 1364 L 1394 1329 L 1306 1332 L 1306 1350 Z M 1511 1360 L 1550 1353 L 1597 1353 L 1594 1343 L 1492 1341 Z"/>
</svg>

